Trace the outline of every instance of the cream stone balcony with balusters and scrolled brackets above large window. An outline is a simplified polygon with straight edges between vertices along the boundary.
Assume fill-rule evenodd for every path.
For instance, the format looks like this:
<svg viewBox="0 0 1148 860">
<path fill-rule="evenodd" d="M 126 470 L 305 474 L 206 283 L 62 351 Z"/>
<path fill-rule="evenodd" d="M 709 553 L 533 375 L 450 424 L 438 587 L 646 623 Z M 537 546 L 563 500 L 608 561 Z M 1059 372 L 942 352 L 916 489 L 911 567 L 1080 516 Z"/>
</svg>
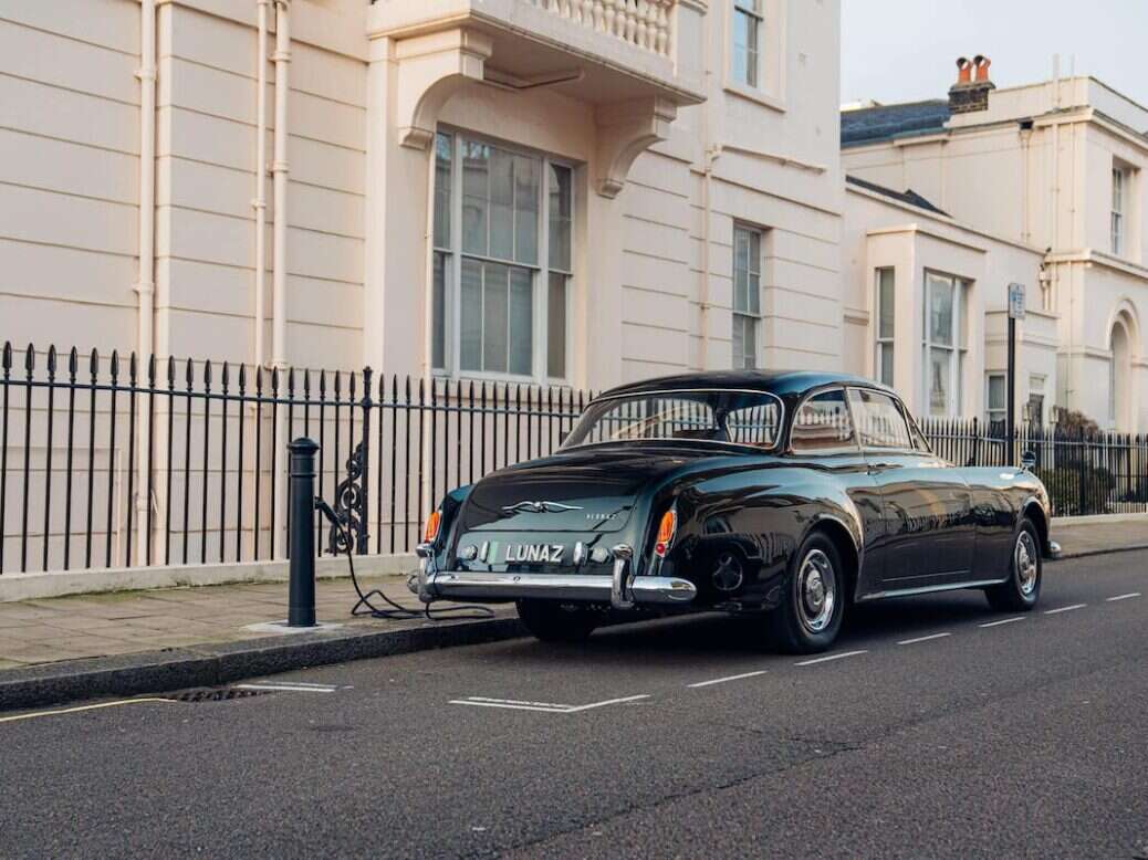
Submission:
<svg viewBox="0 0 1148 860">
<path fill-rule="evenodd" d="M 403 146 L 425 148 L 465 81 L 548 87 L 594 105 L 618 193 L 628 162 L 664 139 L 677 108 L 704 101 L 704 0 L 375 0 L 367 36 L 401 83 Z"/>
</svg>

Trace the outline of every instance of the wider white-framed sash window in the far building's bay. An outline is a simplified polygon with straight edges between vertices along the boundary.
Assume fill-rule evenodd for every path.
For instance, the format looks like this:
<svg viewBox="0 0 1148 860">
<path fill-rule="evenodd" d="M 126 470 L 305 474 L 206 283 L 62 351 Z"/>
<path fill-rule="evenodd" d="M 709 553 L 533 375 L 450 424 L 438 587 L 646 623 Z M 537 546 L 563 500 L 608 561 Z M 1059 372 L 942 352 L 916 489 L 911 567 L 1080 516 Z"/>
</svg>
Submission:
<svg viewBox="0 0 1148 860">
<path fill-rule="evenodd" d="M 924 400 L 930 415 L 961 414 L 964 372 L 964 291 L 968 283 L 951 275 L 925 272 Z"/>
</svg>

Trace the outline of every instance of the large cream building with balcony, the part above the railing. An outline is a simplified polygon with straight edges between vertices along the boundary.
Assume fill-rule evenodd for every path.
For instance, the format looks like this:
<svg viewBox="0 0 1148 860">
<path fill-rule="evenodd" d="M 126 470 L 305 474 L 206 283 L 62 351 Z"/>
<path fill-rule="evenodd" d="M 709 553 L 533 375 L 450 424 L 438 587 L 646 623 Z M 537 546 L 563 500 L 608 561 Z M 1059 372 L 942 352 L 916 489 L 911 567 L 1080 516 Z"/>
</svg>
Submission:
<svg viewBox="0 0 1148 860">
<path fill-rule="evenodd" d="M 837 367 L 838 55 L 838 0 L 7 0 L 2 336 Z"/>
</svg>

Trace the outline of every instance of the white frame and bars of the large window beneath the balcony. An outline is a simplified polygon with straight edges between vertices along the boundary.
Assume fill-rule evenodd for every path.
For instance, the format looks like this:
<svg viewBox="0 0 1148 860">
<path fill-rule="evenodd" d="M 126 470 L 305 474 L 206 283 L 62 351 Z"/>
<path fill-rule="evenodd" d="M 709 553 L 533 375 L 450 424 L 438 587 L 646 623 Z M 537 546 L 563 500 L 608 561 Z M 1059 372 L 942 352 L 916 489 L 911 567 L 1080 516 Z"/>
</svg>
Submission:
<svg viewBox="0 0 1148 860">
<path fill-rule="evenodd" d="M 450 378 L 473 378 L 473 380 L 491 380 L 491 381 L 509 381 L 509 382 L 532 382 L 540 385 L 567 385 L 571 381 L 572 373 L 572 334 L 573 334 L 573 292 L 575 289 L 575 261 L 577 259 L 576 253 L 576 236 L 577 236 L 577 212 L 576 212 L 576 182 L 577 182 L 577 167 L 576 165 L 564 161 L 561 158 L 554 158 L 544 153 L 538 153 L 536 150 L 527 149 L 513 143 L 506 143 L 501 140 L 495 140 L 482 134 L 475 134 L 460 128 L 453 128 L 449 126 L 440 126 L 437 134 L 447 135 L 451 141 L 451 178 L 450 178 L 450 248 L 443 248 L 436 244 L 434 235 L 434 206 L 435 206 L 435 189 L 432 188 L 430 193 L 430 267 L 429 267 L 429 279 L 428 279 L 428 302 L 427 308 L 428 313 L 432 315 L 432 329 L 430 329 L 430 341 L 427 344 L 427 352 L 430 358 L 428 363 L 432 365 L 432 373 L 436 376 L 448 376 Z M 436 134 L 436 139 L 437 139 Z M 495 257 L 478 256 L 473 253 L 464 253 L 463 251 L 463 142 L 471 141 L 475 143 L 483 143 L 487 146 L 502 149 L 506 153 L 512 153 L 514 155 L 526 156 L 528 158 L 536 159 L 541 167 L 541 181 L 538 182 L 538 257 L 537 263 L 534 265 L 518 263 L 514 260 L 504 260 Z M 436 144 L 432 147 L 432 157 L 436 158 Z M 565 167 L 571 172 L 571 271 L 563 272 L 561 269 L 550 268 L 550 173 L 549 169 L 551 165 L 557 165 Z M 436 177 L 436 172 L 432 170 L 432 177 Z M 436 253 L 444 253 L 449 261 L 449 272 L 445 283 L 445 296 L 444 305 L 448 308 L 448 314 L 445 323 L 443 326 L 443 352 L 444 361 L 443 367 L 433 367 L 434 362 L 434 327 L 435 320 L 434 314 L 434 257 Z M 534 310 L 534 319 L 532 320 L 532 354 L 530 354 L 530 374 L 514 374 L 499 372 L 488 372 L 488 370 L 464 370 L 460 366 L 460 320 L 461 320 L 461 294 L 463 294 L 463 258 L 467 257 L 471 259 L 481 260 L 483 263 L 497 263 L 501 265 L 506 265 L 517 268 L 526 268 L 532 273 L 533 279 L 533 297 L 532 304 Z M 567 276 L 566 287 L 566 308 L 565 308 L 565 328 L 566 328 L 566 354 L 565 354 L 565 376 L 551 376 L 549 367 L 549 351 L 548 351 L 548 338 L 549 338 L 549 302 L 550 302 L 550 274 L 551 272 L 557 272 L 565 274 Z"/>
</svg>

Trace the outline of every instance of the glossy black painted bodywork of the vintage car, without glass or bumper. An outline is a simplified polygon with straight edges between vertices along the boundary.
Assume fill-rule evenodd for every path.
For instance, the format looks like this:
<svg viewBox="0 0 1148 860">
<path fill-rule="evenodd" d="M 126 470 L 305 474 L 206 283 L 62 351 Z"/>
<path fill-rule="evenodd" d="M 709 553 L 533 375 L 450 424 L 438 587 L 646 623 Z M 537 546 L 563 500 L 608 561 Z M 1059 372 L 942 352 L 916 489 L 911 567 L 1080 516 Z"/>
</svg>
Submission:
<svg viewBox="0 0 1148 860">
<path fill-rule="evenodd" d="M 796 549 L 814 529 L 838 542 L 854 573 L 856 600 L 1003 580 L 1026 509 L 1040 519 L 1047 547 L 1047 494 L 1019 469 L 956 468 L 921 449 L 791 452 L 784 443 L 800 402 L 839 385 L 889 392 L 860 377 L 754 372 L 690 374 L 614 389 L 603 397 L 676 388 L 768 391 L 785 406 L 783 444 L 773 453 L 696 440 L 598 444 L 496 471 L 444 501 L 437 565 L 604 573 L 608 562 L 573 564 L 575 544 L 581 541 L 587 554 L 627 544 L 635 549 L 637 576 L 677 576 L 697 586 L 691 609 L 753 610 L 776 605 Z M 569 509 L 504 510 L 543 500 Z M 678 529 L 670 552 L 658 558 L 654 534 L 670 506 Z M 505 547 L 517 544 L 561 545 L 563 562 L 507 562 Z M 470 545 L 484 546 L 486 558 L 459 558 Z M 743 572 L 732 589 L 713 578 L 719 562 L 730 557 Z"/>
</svg>

